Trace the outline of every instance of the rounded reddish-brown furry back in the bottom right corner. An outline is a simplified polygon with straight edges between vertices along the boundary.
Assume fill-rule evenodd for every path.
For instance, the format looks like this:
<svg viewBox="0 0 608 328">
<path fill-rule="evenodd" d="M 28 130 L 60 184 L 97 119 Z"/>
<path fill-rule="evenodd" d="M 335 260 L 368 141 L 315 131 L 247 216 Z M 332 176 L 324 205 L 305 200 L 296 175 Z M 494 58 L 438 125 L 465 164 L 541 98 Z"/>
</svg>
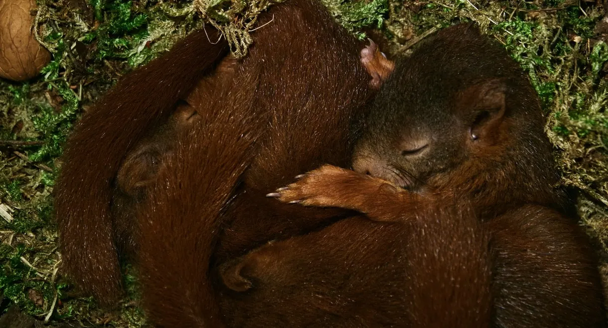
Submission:
<svg viewBox="0 0 608 328">
<path fill-rule="evenodd" d="M 497 327 L 606 327 L 598 264 L 575 222 L 526 205 L 486 226 Z"/>
</svg>

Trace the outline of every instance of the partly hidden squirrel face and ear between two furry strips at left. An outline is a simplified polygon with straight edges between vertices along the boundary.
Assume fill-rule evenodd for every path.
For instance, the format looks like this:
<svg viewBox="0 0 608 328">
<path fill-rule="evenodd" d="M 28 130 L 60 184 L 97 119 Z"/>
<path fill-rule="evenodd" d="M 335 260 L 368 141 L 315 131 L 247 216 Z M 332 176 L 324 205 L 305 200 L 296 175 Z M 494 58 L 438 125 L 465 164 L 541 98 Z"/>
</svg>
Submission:
<svg viewBox="0 0 608 328">
<path fill-rule="evenodd" d="M 184 100 L 178 101 L 169 120 L 153 129 L 126 154 L 116 177 L 111 211 L 119 255 L 133 258 L 137 253 L 139 231 L 134 227 L 136 207 L 143 202 L 151 186 L 157 183 L 157 173 L 165 157 L 174 152 L 180 131 L 191 129 L 201 119 L 200 109 L 212 108 L 224 89 L 230 86 L 236 60 L 230 56 L 221 60 L 215 70 L 201 78 Z M 207 118 L 209 120 L 209 118 Z"/>
</svg>

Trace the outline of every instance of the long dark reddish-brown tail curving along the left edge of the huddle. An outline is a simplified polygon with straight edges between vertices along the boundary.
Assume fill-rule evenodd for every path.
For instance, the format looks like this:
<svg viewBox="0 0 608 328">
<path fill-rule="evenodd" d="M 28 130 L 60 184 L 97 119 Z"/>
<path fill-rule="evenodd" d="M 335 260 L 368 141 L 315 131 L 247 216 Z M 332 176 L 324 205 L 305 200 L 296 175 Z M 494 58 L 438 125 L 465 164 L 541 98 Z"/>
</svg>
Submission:
<svg viewBox="0 0 608 328">
<path fill-rule="evenodd" d="M 69 138 L 55 187 L 64 269 L 102 304 L 120 295 L 120 270 L 109 214 L 111 183 L 126 152 L 228 50 L 215 29 L 187 36 L 170 52 L 119 81 L 83 116 Z"/>
</svg>

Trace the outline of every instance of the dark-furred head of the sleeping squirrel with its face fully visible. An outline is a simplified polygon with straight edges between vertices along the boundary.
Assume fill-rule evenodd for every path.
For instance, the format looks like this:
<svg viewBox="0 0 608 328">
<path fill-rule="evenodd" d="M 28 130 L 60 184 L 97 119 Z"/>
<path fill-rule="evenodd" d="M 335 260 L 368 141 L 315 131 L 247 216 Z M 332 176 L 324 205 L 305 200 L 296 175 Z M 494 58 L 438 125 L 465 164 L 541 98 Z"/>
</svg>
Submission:
<svg viewBox="0 0 608 328">
<path fill-rule="evenodd" d="M 384 82 L 365 117 L 353 170 L 407 194 L 466 195 L 483 216 L 527 203 L 569 211 L 571 202 L 556 187 L 539 100 L 517 64 L 473 27 L 452 27 L 435 40 L 398 61 Z"/>
</svg>

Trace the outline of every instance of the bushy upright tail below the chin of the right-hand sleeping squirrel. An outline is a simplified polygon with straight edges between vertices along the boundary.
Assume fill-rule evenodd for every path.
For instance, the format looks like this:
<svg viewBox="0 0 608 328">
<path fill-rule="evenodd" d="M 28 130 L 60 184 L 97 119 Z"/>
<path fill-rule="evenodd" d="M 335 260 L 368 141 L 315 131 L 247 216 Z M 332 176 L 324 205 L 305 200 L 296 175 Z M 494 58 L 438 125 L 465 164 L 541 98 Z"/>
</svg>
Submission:
<svg viewBox="0 0 608 328">
<path fill-rule="evenodd" d="M 472 211 L 449 207 L 418 217 L 407 245 L 411 327 L 489 327 L 488 234 Z"/>
</svg>

